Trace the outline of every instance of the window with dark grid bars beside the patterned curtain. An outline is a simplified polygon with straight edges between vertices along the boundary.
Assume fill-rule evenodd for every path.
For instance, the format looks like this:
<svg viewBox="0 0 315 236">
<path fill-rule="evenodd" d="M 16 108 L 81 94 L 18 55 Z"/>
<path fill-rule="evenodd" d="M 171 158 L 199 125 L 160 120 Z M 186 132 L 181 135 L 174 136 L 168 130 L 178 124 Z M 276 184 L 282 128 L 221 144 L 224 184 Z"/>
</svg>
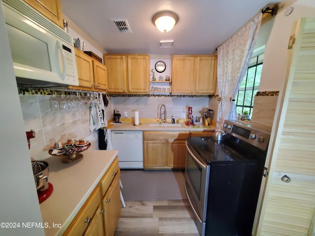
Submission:
<svg viewBox="0 0 315 236">
<path fill-rule="evenodd" d="M 252 108 L 254 105 L 254 96 L 259 88 L 260 76 L 262 70 L 262 61 L 264 46 L 254 51 L 252 59 L 250 60 L 247 72 L 242 80 L 239 91 L 235 98 L 237 114 L 243 114 L 248 111 L 252 115 Z"/>
</svg>

